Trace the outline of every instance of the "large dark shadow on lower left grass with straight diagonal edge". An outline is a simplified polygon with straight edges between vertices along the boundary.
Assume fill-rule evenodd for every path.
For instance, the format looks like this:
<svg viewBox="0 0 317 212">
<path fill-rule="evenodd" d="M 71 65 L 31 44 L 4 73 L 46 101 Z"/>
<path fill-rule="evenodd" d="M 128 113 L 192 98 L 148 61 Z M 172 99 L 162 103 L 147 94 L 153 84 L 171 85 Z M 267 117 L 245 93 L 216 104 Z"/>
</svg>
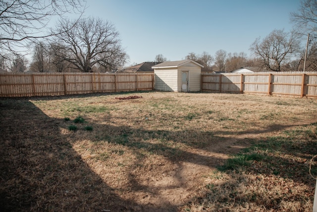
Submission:
<svg viewBox="0 0 317 212">
<path fill-rule="evenodd" d="M 0 104 L 0 211 L 133 211 L 25 100 Z"/>
</svg>

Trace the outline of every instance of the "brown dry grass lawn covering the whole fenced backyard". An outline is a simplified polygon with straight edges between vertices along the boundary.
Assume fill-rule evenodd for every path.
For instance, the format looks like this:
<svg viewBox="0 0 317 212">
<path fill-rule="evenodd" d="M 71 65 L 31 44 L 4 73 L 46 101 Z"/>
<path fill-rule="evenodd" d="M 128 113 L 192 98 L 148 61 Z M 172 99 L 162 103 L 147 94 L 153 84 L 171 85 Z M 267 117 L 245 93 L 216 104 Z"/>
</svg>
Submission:
<svg viewBox="0 0 317 212">
<path fill-rule="evenodd" d="M 115 99 L 129 95 L 142 98 Z M 237 94 L 2 98 L 0 209 L 311 211 L 316 112 L 316 99 Z M 266 159 L 217 170 L 276 138 L 297 144 L 253 148 Z"/>
</svg>

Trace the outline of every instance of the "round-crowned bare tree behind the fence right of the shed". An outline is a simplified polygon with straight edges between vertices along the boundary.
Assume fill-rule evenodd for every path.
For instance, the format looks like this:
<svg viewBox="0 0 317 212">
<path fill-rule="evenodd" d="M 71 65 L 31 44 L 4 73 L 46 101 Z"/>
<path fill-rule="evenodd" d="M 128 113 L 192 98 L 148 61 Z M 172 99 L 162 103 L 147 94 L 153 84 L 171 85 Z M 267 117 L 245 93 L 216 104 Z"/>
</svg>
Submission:
<svg viewBox="0 0 317 212">
<path fill-rule="evenodd" d="M 257 38 L 250 47 L 256 57 L 271 71 L 281 71 L 281 65 L 299 51 L 299 37 L 293 31 L 273 30 L 262 41 Z"/>
</svg>

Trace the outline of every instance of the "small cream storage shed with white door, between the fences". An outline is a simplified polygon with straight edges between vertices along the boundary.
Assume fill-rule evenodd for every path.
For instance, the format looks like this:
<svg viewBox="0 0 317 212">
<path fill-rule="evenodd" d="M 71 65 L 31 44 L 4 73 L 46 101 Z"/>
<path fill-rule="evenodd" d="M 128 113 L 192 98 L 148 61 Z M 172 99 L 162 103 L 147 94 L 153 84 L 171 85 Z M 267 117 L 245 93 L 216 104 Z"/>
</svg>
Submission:
<svg viewBox="0 0 317 212">
<path fill-rule="evenodd" d="M 204 66 L 192 60 L 166 61 L 152 67 L 155 89 L 161 91 L 200 91 L 201 70 Z"/>
</svg>

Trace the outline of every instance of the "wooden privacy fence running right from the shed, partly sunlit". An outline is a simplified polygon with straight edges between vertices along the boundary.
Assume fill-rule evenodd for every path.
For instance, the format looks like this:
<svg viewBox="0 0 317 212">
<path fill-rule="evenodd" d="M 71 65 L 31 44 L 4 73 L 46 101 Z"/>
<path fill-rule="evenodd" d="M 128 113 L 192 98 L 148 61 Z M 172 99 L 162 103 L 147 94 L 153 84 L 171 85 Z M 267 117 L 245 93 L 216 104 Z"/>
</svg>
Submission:
<svg viewBox="0 0 317 212">
<path fill-rule="evenodd" d="M 202 74 L 201 90 L 317 97 L 317 72 Z"/>
</svg>

